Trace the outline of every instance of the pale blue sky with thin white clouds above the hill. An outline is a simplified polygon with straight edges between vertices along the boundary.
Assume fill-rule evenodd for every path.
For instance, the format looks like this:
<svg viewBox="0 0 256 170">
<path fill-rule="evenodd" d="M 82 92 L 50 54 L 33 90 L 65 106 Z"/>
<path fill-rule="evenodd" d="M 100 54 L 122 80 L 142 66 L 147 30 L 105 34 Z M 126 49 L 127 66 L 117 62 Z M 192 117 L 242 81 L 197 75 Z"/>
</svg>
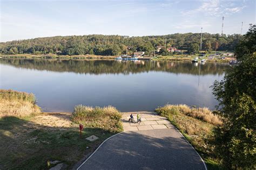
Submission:
<svg viewBox="0 0 256 170">
<path fill-rule="evenodd" d="M 0 42 L 70 35 L 246 33 L 255 0 L 0 0 Z"/>
</svg>

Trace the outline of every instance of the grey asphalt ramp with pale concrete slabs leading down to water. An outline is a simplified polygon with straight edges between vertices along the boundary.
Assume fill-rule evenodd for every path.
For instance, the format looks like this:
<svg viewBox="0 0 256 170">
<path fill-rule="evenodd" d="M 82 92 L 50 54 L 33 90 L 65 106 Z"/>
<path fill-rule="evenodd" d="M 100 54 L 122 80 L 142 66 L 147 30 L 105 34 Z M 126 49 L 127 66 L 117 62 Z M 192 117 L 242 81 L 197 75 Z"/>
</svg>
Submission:
<svg viewBox="0 0 256 170">
<path fill-rule="evenodd" d="M 145 113 L 144 118 L 154 116 L 154 113 Z M 79 169 L 205 169 L 199 155 L 173 125 L 160 121 L 164 118 L 147 118 L 144 125 L 135 126 L 137 130 L 129 129 L 134 127 L 129 124 L 125 126 L 125 132 L 106 140 Z M 157 124 L 150 125 L 151 130 L 140 129 L 142 126 L 149 128 L 146 121 L 156 121 Z M 164 125 L 165 128 L 154 129 L 156 126 L 153 125 Z"/>
</svg>

